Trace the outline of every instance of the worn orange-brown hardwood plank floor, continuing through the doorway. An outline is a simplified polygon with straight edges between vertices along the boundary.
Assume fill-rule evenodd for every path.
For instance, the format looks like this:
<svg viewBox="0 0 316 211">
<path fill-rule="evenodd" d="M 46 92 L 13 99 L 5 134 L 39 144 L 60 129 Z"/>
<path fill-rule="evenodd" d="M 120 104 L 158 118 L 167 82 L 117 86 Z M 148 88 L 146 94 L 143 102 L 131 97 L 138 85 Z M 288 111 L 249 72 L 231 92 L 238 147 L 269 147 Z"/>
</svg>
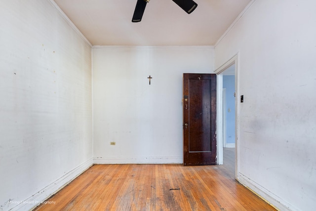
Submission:
<svg viewBox="0 0 316 211">
<path fill-rule="evenodd" d="M 274 211 L 235 180 L 235 149 L 224 165 L 94 165 L 36 211 Z"/>
</svg>

